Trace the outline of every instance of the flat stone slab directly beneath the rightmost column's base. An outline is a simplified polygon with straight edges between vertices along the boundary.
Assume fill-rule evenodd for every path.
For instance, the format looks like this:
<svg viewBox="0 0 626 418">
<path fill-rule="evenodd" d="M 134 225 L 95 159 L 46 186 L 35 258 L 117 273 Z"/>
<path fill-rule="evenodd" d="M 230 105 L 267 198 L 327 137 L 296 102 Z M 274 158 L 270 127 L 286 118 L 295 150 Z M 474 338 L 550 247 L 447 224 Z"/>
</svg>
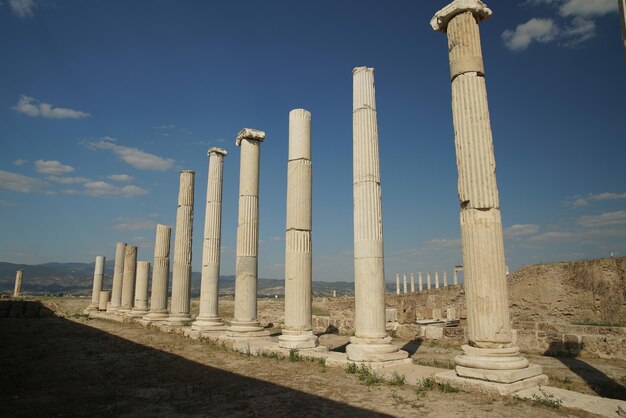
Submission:
<svg viewBox="0 0 626 418">
<path fill-rule="evenodd" d="M 524 380 L 518 380 L 517 382 L 513 383 L 497 383 L 488 382 L 486 380 L 460 377 L 456 374 L 454 370 L 436 374 L 435 380 L 437 381 L 437 383 L 447 383 L 450 386 L 464 390 L 466 392 L 479 392 L 486 395 L 499 396 L 506 396 L 515 392 L 519 392 L 523 389 L 548 384 L 548 376 L 546 376 L 545 374 L 533 376 Z"/>
</svg>

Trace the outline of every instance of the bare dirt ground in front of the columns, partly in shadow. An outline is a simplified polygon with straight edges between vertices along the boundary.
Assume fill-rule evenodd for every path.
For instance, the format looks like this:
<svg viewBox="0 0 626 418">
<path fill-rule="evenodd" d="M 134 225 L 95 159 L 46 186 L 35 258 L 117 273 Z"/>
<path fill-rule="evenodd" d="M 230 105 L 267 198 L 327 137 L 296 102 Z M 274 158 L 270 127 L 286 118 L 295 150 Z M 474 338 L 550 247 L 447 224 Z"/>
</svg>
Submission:
<svg viewBox="0 0 626 418">
<path fill-rule="evenodd" d="M 0 319 L 0 416 L 590 416 L 512 398 L 367 386 L 321 363 L 247 356 L 139 325 L 88 319 L 86 299 L 44 303 L 57 317 Z M 455 350 L 421 344 L 415 356 L 444 362 Z M 545 361 L 555 373 L 569 370 L 557 359 Z M 623 366 L 593 367 L 623 377 Z M 563 385 L 574 385 L 577 376 Z"/>
</svg>

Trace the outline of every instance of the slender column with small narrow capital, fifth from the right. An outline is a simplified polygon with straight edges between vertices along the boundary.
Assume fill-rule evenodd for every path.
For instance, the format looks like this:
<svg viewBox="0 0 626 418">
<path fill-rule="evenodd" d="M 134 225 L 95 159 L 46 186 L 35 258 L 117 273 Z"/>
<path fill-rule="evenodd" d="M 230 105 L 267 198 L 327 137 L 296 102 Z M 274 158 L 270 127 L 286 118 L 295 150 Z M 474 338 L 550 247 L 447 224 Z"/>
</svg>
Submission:
<svg viewBox="0 0 626 418">
<path fill-rule="evenodd" d="M 191 324 L 191 328 L 198 331 L 218 331 L 225 328 L 224 322 L 218 315 L 217 305 L 222 236 L 222 173 L 226 154 L 226 150 L 222 148 L 210 148 L 207 152 L 209 177 L 204 214 L 204 242 L 202 244 L 200 313 Z"/>
</svg>

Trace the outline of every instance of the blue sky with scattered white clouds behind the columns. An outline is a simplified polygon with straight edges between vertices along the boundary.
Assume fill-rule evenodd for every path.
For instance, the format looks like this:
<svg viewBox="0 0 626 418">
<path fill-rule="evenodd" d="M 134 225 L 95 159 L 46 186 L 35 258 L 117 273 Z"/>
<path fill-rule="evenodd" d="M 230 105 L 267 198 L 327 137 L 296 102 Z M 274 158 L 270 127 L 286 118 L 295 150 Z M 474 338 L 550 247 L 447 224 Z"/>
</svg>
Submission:
<svg viewBox="0 0 626 418">
<path fill-rule="evenodd" d="M 153 256 L 209 147 L 235 269 L 239 150 L 264 130 L 259 274 L 284 277 L 288 113 L 312 113 L 314 280 L 353 280 L 352 68 L 376 69 L 385 270 L 461 262 L 445 1 L 1 0 L 0 260 Z M 626 61 L 617 2 L 487 2 L 481 24 L 511 270 L 626 255 Z"/>
</svg>

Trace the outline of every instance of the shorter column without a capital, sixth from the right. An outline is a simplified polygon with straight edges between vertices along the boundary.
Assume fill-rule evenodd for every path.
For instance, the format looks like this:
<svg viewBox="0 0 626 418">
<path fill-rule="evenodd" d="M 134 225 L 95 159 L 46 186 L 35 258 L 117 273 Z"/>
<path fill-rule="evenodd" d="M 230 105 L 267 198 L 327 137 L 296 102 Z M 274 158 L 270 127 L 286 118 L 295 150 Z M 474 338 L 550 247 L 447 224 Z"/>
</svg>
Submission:
<svg viewBox="0 0 626 418">
<path fill-rule="evenodd" d="M 195 172 L 181 170 L 174 237 L 174 269 L 172 274 L 172 306 L 168 325 L 181 326 L 191 322 L 191 244 L 193 235 L 193 186 Z"/>
</svg>

